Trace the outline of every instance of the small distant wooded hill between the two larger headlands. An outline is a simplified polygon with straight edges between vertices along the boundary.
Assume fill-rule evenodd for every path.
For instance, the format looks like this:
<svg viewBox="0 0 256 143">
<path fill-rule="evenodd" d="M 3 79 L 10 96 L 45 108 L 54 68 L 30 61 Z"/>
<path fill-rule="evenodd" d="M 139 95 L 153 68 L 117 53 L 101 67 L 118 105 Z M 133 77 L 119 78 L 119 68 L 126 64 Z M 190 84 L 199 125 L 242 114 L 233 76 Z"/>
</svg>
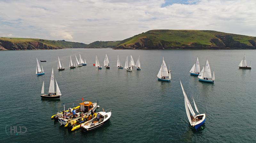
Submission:
<svg viewBox="0 0 256 143">
<path fill-rule="evenodd" d="M 120 41 L 95 41 L 88 44 L 87 48 L 114 48 Z"/>
</svg>

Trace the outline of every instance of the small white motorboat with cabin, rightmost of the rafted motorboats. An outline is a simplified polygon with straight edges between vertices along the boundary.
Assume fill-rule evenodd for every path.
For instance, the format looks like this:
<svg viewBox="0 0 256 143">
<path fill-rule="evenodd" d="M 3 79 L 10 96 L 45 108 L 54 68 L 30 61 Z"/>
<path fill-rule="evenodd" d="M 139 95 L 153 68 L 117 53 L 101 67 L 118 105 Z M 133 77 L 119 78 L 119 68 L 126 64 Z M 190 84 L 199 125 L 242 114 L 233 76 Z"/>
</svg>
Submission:
<svg viewBox="0 0 256 143">
<path fill-rule="evenodd" d="M 94 129 L 99 128 L 100 126 L 104 125 L 111 116 L 111 109 L 106 111 L 98 112 L 100 118 L 96 119 L 93 118 L 90 122 L 86 123 L 85 125 L 81 126 L 82 131 L 88 132 Z"/>
</svg>

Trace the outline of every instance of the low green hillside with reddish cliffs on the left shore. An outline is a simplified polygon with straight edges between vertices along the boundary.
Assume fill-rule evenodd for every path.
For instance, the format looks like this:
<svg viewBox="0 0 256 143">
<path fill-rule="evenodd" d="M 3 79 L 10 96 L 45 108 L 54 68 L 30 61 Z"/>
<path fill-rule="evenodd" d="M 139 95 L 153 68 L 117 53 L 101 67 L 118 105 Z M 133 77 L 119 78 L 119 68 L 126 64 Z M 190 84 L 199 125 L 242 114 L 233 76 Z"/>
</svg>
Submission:
<svg viewBox="0 0 256 143">
<path fill-rule="evenodd" d="M 85 48 L 87 44 L 65 40 L 45 40 L 31 38 L 0 38 L 0 50 L 37 50 Z"/>
</svg>

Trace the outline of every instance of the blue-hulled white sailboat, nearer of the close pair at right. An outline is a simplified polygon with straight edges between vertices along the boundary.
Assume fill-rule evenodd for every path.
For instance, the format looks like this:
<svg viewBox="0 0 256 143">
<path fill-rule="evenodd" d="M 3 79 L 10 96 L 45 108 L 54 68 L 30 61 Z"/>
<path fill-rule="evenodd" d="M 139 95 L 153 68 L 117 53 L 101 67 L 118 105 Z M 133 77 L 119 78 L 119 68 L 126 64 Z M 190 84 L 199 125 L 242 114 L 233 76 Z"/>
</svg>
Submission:
<svg viewBox="0 0 256 143">
<path fill-rule="evenodd" d="M 197 77 L 198 77 L 198 81 L 214 83 L 214 80 L 215 80 L 214 70 L 212 73 L 210 64 L 207 59 L 206 59 L 205 66 L 203 67 L 202 71 L 200 72 L 200 74 Z"/>
</svg>

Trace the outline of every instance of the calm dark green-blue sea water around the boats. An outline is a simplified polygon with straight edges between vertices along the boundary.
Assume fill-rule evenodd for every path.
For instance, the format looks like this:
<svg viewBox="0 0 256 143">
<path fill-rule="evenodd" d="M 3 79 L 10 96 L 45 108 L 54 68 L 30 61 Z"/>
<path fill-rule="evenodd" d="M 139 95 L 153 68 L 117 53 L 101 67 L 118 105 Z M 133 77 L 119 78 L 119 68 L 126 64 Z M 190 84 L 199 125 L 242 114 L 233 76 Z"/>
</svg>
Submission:
<svg viewBox="0 0 256 143">
<path fill-rule="evenodd" d="M 69 69 L 69 56 L 82 55 L 87 66 Z M 110 70 L 93 67 L 98 55 L 103 65 L 108 54 Z M 140 55 L 141 71 L 117 69 L 119 54 L 134 61 Z M 238 69 L 246 54 L 251 70 Z M 65 70 L 57 70 L 57 56 Z M 171 82 L 159 82 L 156 75 L 162 57 L 171 65 Z M 198 82 L 188 71 L 199 57 L 215 70 L 214 84 Z M 36 57 L 43 62 L 45 75 L 36 76 Z M 48 91 L 50 75 L 62 97 L 42 100 L 43 81 Z M 255 142 L 256 141 L 256 50 L 112 50 L 63 49 L 0 52 L 0 142 Z M 203 129 L 191 129 L 184 107 L 181 79 L 190 101 L 193 95 L 200 113 L 206 114 Z M 110 122 L 90 133 L 70 132 L 51 120 L 65 107 L 99 100 L 101 111 L 111 108 Z M 25 126 L 24 135 L 10 135 L 10 125 Z M 7 131 L 5 129 L 7 127 Z M 8 128 L 9 127 L 9 128 Z"/>
</svg>

